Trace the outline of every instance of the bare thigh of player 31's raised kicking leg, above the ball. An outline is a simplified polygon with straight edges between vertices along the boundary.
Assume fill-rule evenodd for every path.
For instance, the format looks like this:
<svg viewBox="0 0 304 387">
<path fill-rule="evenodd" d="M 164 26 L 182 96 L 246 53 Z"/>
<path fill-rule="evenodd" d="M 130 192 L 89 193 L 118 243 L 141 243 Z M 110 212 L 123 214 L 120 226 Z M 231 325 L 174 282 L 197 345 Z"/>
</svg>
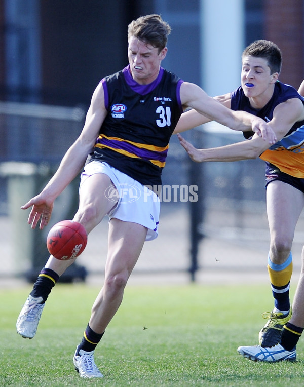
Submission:
<svg viewBox="0 0 304 387">
<path fill-rule="evenodd" d="M 116 203 L 106 197 L 106 190 L 113 186 L 104 173 L 95 173 L 86 178 L 79 190 L 79 208 L 73 220 L 83 224 L 90 231 L 108 214 Z"/>
</svg>

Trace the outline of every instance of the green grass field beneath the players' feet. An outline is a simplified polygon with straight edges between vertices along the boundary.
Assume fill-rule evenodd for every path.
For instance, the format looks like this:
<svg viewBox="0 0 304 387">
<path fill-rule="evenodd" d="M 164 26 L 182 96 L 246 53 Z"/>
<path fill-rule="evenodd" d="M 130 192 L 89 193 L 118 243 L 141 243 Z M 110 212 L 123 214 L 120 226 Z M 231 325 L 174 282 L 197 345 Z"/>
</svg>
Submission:
<svg viewBox="0 0 304 387">
<path fill-rule="evenodd" d="M 36 336 L 15 324 L 30 288 L 0 289 L 0 385 L 303 386 L 304 346 L 295 363 L 252 362 L 239 345 L 257 343 L 272 308 L 269 286 L 132 286 L 96 349 L 104 379 L 81 379 L 72 357 L 99 289 L 57 285 Z"/>
</svg>

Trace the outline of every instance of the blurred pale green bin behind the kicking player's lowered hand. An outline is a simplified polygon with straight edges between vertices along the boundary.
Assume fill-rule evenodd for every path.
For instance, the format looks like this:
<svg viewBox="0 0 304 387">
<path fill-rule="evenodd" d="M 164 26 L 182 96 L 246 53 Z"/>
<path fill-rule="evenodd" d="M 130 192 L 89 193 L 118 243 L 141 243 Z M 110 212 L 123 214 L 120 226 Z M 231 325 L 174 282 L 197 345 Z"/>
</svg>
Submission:
<svg viewBox="0 0 304 387">
<path fill-rule="evenodd" d="M 0 174 L 8 178 L 8 208 L 13 227 L 13 259 L 16 262 L 16 274 L 25 276 L 29 282 L 36 280 L 49 257 L 46 238 L 50 228 L 60 220 L 72 219 L 78 208 L 79 177 L 75 178 L 56 199 L 52 218 L 47 227 L 40 230 L 37 226 L 33 230 L 27 224 L 29 211 L 23 211 L 20 207 L 43 189 L 56 169 L 57 166 L 51 167 L 47 163 L 10 161 L 0 164 Z M 86 268 L 74 263 L 60 277 L 60 282 L 85 281 L 86 276 Z"/>
</svg>

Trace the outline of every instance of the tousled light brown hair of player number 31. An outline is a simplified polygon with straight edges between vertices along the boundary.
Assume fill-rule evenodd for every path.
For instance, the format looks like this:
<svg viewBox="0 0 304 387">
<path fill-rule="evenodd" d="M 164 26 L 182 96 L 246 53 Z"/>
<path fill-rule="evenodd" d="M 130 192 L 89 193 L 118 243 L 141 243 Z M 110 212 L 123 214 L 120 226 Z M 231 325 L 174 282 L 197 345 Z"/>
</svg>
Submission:
<svg viewBox="0 0 304 387">
<path fill-rule="evenodd" d="M 159 52 L 166 47 L 171 27 L 164 22 L 160 15 L 140 16 L 128 26 L 128 40 L 135 36 L 140 41 L 158 48 Z"/>
</svg>

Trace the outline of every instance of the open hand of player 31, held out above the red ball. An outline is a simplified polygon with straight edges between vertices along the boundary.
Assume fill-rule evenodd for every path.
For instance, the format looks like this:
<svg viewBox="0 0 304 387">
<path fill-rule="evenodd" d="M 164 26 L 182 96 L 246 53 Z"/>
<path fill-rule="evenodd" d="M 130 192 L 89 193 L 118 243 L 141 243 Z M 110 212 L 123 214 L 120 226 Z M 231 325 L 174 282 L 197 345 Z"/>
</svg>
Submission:
<svg viewBox="0 0 304 387">
<path fill-rule="evenodd" d="M 27 223 L 31 224 L 32 228 L 35 228 L 39 219 L 40 221 L 40 229 L 42 230 L 44 226 L 46 226 L 51 218 L 52 210 L 53 210 L 54 202 L 45 199 L 41 194 L 32 198 L 29 202 L 24 204 L 21 209 L 26 210 L 27 208 L 32 207 Z"/>
</svg>

